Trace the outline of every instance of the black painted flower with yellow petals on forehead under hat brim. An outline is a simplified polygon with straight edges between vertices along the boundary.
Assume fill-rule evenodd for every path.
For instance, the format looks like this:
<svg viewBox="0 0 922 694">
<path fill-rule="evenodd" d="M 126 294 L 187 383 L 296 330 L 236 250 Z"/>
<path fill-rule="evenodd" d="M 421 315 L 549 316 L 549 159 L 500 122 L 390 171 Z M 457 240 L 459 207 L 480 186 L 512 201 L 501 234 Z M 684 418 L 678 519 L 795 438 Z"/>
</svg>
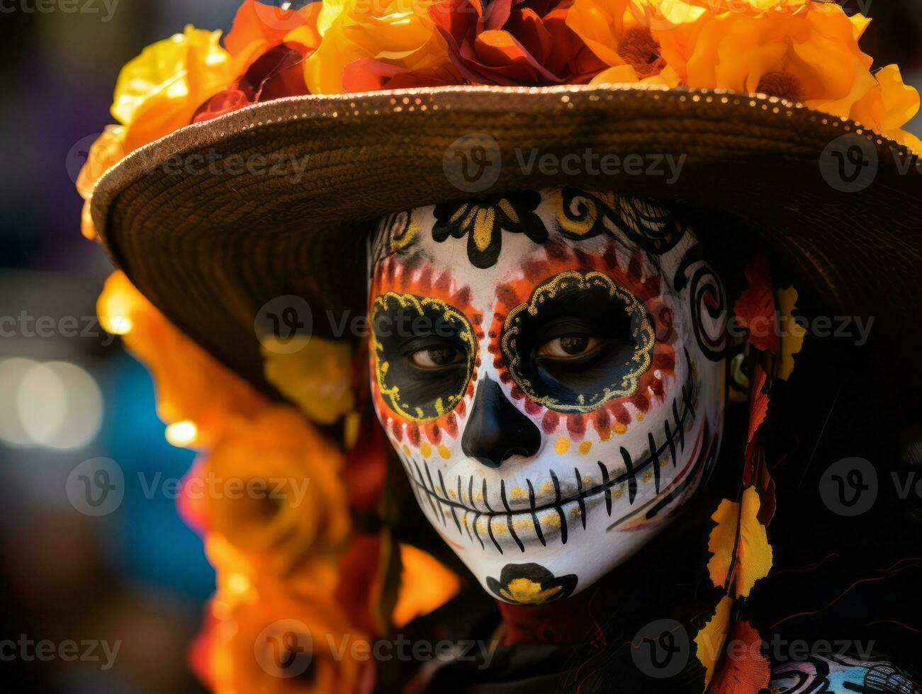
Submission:
<svg viewBox="0 0 922 694">
<path fill-rule="evenodd" d="M 523 233 L 531 241 L 548 240 L 548 229 L 535 214 L 541 202 L 538 191 L 491 195 L 463 203 L 435 206 L 432 239 L 461 239 L 467 234 L 467 258 L 479 268 L 496 264 L 502 246 L 502 232 Z"/>
</svg>

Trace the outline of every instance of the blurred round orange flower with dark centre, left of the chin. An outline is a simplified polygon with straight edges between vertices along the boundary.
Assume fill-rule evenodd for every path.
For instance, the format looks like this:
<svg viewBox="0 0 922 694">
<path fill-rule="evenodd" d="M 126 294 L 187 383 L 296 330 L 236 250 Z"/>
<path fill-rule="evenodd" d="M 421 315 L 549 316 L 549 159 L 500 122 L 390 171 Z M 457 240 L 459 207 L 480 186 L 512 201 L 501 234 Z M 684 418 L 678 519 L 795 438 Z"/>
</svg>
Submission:
<svg viewBox="0 0 922 694">
<path fill-rule="evenodd" d="M 291 407 L 267 408 L 207 457 L 208 528 L 284 573 L 349 532 L 340 453 Z"/>
</svg>

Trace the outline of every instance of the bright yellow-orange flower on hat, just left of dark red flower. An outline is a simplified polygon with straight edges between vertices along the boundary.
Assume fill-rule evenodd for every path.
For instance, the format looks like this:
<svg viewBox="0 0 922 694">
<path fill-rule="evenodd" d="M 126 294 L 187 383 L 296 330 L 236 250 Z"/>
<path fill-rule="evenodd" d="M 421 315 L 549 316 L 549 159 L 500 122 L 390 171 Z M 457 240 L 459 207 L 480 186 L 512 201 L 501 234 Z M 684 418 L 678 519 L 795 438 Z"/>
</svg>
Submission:
<svg viewBox="0 0 922 694">
<path fill-rule="evenodd" d="M 448 47 L 428 15 L 431 0 L 325 0 L 317 29 L 320 47 L 305 61 L 312 94 L 338 94 L 343 69 L 371 58 L 417 74 L 437 75 L 449 63 Z"/>
</svg>

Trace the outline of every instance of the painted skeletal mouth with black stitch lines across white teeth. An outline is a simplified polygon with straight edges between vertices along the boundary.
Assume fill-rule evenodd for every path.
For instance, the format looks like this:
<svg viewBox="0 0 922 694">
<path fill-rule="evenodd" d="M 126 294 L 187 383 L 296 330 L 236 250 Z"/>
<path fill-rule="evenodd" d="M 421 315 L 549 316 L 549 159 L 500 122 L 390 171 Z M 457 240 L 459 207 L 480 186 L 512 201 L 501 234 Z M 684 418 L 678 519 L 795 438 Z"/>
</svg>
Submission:
<svg viewBox="0 0 922 694">
<path fill-rule="evenodd" d="M 662 421 L 649 429 L 643 449 L 622 446 L 620 459 L 609 465 L 532 468 L 521 484 L 517 476 L 514 482 L 489 473 L 445 477 L 421 456 L 405 452 L 401 458 L 420 506 L 462 540 L 500 554 L 557 539 L 565 545 L 573 528 L 585 530 L 587 523 L 644 523 L 659 511 L 651 504 L 676 500 L 703 476 L 714 437 L 706 421 L 694 426 L 697 397 L 690 369 L 678 393 L 657 408 Z"/>
</svg>

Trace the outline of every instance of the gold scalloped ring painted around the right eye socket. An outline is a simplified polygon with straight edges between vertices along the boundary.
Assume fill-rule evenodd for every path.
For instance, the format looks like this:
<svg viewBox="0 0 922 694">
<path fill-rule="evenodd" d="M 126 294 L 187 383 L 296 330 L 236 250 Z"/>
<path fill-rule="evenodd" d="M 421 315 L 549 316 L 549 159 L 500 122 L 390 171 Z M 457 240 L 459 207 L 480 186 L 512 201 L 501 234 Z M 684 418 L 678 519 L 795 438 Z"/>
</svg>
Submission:
<svg viewBox="0 0 922 694">
<path fill-rule="evenodd" d="M 538 315 L 542 303 L 557 296 L 561 291 L 574 288 L 603 288 L 608 292 L 609 297 L 617 297 L 622 300 L 624 302 L 624 311 L 632 318 L 635 325 L 633 337 L 637 345 L 634 347 L 631 358 L 624 363 L 624 366 L 628 367 L 628 371 L 620 379 L 610 383 L 599 393 L 579 394 L 576 403 L 566 403 L 550 395 L 538 395 L 535 392 L 533 384 L 528 381 L 519 369 L 521 359 L 516 340 L 519 335 L 519 325 L 526 315 Z M 591 412 L 614 398 L 633 394 L 640 384 L 641 376 L 650 368 L 653 361 L 651 355 L 655 345 L 656 332 L 650 322 L 650 317 L 647 315 L 644 305 L 630 291 L 616 284 L 611 277 L 604 273 L 597 271 L 584 273 L 579 270 L 561 272 L 561 274 L 551 277 L 550 280 L 535 288 L 531 297 L 525 303 L 516 306 L 506 316 L 506 320 L 502 324 L 502 338 L 500 340 L 502 357 L 506 361 L 509 372 L 528 397 L 539 405 L 557 412 L 581 413 Z"/>
</svg>

